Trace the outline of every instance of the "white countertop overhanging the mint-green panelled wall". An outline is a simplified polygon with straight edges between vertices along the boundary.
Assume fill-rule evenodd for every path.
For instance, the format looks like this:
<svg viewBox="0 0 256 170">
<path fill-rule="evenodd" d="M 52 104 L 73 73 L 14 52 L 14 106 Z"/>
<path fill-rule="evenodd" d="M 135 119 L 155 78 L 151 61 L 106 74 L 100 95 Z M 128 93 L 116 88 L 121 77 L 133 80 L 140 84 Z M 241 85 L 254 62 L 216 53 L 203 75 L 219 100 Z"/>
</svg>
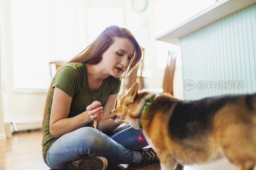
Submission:
<svg viewBox="0 0 256 170">
<path fill-rule="evenodd" d="M 204 26 L 254 3 L 256 3 L 256 0 L 220 0 L 179 25 L 157 36 L 156 40 L 179 45 L 180 37 L 193 33 Z"/>
</svg>

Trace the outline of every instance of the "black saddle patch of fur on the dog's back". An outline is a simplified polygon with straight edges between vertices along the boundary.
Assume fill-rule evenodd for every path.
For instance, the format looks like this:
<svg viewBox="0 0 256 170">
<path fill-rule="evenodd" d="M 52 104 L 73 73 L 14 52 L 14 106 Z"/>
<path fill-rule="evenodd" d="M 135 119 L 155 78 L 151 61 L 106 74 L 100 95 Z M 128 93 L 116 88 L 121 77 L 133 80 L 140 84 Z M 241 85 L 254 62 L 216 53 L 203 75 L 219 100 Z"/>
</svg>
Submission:
<svg viewBox="0 0 256 170">
<path fill-rule="evenodd" d="M 239 102 L 242 97 L 245 97 L 248 110 L 255 109 L 256 93 L 207 97 L 201 100 L 178 100 L 168 124 L 170 136 L 185 139 L 206 133 L 212 129 L 212 118 L 216 112 L 228 103 Z"/>
</svg>

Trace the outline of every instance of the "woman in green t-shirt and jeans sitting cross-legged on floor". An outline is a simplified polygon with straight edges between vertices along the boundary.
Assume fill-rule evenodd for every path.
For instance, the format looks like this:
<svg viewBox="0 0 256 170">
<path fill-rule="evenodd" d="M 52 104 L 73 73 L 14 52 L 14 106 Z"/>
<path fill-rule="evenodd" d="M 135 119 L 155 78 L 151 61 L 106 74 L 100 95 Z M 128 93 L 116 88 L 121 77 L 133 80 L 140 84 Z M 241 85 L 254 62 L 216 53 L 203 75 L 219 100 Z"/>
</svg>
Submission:
<svg viewBox="0 0 256 170">
<path fill-rule="evenodd" d="M 121 79 L 140 58 L 141 48 L 133 34 L 126 28 L 109 26 L 60 67 L 44 107 L 42 146 L 49 167 L 106 169 L 108 163 L 156 161 L 151 148 L 141 149 L 148 144 L 140 130 L 130 125 L 118 128 L 120 124 L 109 117 Z"/>
</svg>

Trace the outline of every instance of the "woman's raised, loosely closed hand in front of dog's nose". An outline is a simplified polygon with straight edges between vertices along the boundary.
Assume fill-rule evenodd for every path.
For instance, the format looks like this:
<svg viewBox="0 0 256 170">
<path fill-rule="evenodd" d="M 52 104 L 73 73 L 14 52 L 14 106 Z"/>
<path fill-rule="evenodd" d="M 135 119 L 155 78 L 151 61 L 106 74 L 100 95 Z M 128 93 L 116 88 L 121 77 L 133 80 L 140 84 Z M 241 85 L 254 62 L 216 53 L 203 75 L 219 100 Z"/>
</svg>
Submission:
<svg viewBox="0 0 256 170">
<path fill-rule="evenodd" d="M 98 122 L 102 117 L 102 109 L 101 103 L 99 101 L 94 101 L 92 104 L 86 107 L 86 111 L 88 113 L 88 117 L 93 119 L 95 122 Z"/>
</svg>

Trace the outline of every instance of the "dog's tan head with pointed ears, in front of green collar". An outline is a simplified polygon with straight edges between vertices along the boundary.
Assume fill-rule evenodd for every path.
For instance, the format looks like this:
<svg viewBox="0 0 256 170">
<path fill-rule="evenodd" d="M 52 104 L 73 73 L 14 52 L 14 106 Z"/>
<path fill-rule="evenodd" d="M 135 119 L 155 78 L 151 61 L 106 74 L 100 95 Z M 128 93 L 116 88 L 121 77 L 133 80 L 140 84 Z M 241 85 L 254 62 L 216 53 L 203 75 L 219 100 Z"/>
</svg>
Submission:
<svg viewBox="0 0 256 170">
<path fill-rule="evenodd" d="M 120 106 L 110 113 L 116 123 L 127 122 L 135 129 L 140 128 L 140 113 L 145 104 L 143 97 L 149 92 L 138 93 L 139 84 L 136 82 L 120 100 Z"/>
</svg>

